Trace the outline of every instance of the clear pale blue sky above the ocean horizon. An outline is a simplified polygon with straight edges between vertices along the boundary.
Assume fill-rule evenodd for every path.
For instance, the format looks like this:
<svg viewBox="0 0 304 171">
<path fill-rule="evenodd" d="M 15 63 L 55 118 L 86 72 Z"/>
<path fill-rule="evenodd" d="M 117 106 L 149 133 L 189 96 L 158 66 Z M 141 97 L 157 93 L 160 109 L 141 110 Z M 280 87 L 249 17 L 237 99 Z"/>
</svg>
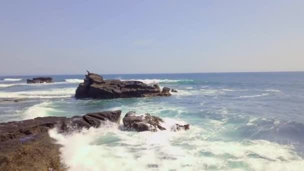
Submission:
<svg viewBox="0 0 304 171">
<path fill-rule="evenodd" d="M 304 70 L 304 0 L 2 0 L 0 75 Z"/>
</svg>

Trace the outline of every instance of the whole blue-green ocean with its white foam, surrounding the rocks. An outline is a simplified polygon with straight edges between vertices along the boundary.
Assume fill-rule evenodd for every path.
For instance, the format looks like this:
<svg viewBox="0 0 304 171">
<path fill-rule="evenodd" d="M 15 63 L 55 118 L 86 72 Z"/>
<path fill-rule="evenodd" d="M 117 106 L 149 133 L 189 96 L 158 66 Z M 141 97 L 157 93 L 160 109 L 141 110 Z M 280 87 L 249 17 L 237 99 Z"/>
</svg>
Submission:
<svg viewBox="0 0 304 171">
<path fill-rule="evenodd" d="M 112 74 L 177 89 L 169 97 L 75 99 L 84 75 L 0 76 L 0 122 L 121 109 L 190 130 L 126 132 L 117 125 L 63 136 L 50 131 L 70 170 L 302 170 L 304 72 Z M 18 99 L 18 102 L 8 99 Z"/>
</svg>

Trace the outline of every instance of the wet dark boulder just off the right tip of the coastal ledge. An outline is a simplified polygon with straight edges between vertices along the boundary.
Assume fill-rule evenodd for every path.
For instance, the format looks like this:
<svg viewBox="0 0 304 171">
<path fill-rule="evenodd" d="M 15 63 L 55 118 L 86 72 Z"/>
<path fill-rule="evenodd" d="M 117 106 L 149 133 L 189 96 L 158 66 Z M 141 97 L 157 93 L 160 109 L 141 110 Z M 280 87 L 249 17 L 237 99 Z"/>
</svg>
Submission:
<svg viewBox="0 0 304 171">
<path fill-rule="evenodd" d="M 157 116 L 151 116 L 148 113 L 145 115 L 136 115 L 134 111 L 129 111 L 125 114 L 122 121 L 125 128 L 134 129 L 137 132 L 147 130 L 155 132 L 157 128 L 165 130 L 165 128 L 160 125 L 160 123 L 163 122 L 162 119 Z"/>
</svg>

